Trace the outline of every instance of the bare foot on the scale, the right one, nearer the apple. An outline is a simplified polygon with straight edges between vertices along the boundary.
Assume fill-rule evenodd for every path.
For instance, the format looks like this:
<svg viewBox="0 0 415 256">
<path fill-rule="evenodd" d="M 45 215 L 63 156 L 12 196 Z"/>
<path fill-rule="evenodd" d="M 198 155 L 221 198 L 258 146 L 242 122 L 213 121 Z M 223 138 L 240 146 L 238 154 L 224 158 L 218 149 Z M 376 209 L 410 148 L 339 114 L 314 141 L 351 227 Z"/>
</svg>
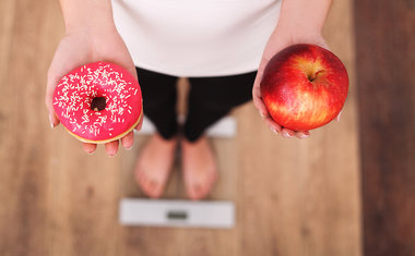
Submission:
<svg viewBox="0 0 415 256">
<path fill-rule="evenodd" d="M 186 192 L 190 199 L 205 197 L 217 180 L 216 159 L 206 137 L 194 143 L 181 141 Z"/>
</svg>

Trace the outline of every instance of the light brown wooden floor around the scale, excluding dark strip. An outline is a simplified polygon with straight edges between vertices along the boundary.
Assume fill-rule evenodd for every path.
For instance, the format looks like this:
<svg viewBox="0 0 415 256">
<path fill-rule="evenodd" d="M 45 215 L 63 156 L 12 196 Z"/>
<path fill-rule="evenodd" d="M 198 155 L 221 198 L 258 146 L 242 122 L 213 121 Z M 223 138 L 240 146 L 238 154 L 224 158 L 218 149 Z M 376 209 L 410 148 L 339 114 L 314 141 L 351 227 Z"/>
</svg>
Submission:
<svg viewBox="0 0 415 256">
<path fill-rule="evenodd" d="M 118 203 L 140 196 L 133 150 L 93 156 L 50 130 L 46 73 L 63 34 L 54 0 L 0 1 L 0 255 L 361 255 L 360 180 L 352 0 L 334 1 L 324 36 L 351 90 L 340 123 L 306 141 L 274 136 L 251 103 L 238 134 L 213 139 L 221 180 L 212 199 L 237 206 L 230 230 L 126 228 Z M 166 197 L 183 197 L 180 166 Z"/>
</svg>

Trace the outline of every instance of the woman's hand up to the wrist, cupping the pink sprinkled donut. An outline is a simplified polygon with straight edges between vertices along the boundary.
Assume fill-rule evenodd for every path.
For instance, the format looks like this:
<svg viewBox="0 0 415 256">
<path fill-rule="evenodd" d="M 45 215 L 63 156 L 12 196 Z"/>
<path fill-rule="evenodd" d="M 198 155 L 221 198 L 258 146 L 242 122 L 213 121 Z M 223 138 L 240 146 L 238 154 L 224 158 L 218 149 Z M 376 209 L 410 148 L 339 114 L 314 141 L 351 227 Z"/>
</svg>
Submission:
<svg viewBox="0 0 415 256">
<path fill-rule="evenodd" d="M 131 56 L 118 34 L 112 21 L 92 23 L 82 26 L 70 27 L 67 25 L 67 33 L 61 39 L 54 60 L 50 64 L 45 102 L 49 111 L 49 121 L 51 127 L 59 124 L 52 106 L 54 90 L 60 78 L 73 69 L 90 62 L 107 61 L 118 64 L 128 70 L 135 78 L 135 66 Z M 140 130 L 142 121 L 135 127 Z M 131 148 L 133 145 L 133 132 L 130 132 L 121 138 L 124 148 Z M 105 150 L 109 156 L 116 155 L 119 142 L 105 144 Z M 96 144 L 83 144 L 83 149 L 87 154 L 93 154 Z"/>
</svg>

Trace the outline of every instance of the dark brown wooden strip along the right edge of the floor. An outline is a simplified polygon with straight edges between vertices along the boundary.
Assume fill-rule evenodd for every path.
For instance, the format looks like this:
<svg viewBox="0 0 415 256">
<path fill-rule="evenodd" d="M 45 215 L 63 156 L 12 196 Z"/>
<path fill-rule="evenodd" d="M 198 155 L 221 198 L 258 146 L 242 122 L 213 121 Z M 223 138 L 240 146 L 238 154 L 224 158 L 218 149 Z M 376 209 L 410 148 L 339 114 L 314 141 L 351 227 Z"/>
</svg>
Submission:
<svg viewBox="0 0 415 256">
<path fill-rule="evenodd" d="M 364 252 L 415 252 L 415 2 L 355 1 Z"/>
</svg>

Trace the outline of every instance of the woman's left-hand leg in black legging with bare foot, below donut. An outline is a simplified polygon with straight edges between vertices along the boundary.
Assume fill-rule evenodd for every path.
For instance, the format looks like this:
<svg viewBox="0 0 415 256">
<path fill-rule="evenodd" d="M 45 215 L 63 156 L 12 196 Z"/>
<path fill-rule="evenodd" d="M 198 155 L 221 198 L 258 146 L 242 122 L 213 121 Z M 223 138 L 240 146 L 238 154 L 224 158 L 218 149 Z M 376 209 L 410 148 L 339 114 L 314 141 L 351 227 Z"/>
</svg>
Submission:
<svg viewBox="0 0 415 256">
<path fill-rule="evenodd" d="M 150 197 L 159 197 L 165 188 L 176 150 L 177 77 L 137 69 L 143 94 L 145 115 L 157 129 L 143 147 L 135 166 L 135 180 Z"/>
</svg>

